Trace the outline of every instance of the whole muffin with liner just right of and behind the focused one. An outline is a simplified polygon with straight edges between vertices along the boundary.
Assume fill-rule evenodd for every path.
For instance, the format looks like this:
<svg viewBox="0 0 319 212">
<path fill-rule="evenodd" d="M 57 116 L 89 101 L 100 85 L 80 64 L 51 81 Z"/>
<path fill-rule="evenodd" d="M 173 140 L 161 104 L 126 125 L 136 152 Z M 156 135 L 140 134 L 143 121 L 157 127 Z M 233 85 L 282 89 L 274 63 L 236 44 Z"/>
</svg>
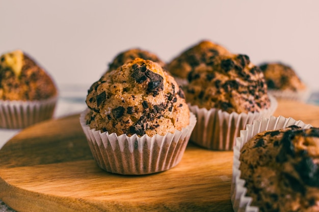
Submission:
<svg viewBox="0 0 319 212">
<path fill-rule="evenodd" d="M 209 149 L 232 149 L 246 124 L 277 107 L 263 73 L 244 54 L 215 56 L 189 72 L 183 89 L 198 119 L 191 140 Z"/>
</svg>

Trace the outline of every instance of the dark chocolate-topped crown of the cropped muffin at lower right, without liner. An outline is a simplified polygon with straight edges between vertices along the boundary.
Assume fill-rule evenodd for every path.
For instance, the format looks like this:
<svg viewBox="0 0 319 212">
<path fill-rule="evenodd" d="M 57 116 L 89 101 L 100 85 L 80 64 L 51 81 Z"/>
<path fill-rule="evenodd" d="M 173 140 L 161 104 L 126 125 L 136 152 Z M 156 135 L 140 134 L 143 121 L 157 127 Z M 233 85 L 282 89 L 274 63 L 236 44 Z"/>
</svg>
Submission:
<svg viewBox="0 0 319 212">
<path fill-rule="evenodd" d="M 241 178 L 259 211 L 318 211 L 319 128 L 264 131 L 241 149 Z"/>
</svg>

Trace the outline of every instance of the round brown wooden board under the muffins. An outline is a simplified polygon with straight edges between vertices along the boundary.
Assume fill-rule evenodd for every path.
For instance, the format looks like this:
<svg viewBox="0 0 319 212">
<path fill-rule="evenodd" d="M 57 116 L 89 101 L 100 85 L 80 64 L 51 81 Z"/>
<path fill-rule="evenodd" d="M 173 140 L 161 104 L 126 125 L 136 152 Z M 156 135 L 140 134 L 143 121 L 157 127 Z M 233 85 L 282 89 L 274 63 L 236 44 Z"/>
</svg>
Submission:
<svg viewBox="0 0 319 212">
<path fill-rule="evenodd" d="M 319 126 L 319 107 L 280 101 L 275 114 Z M 232 211 L 232 151 L 189 144 L 161 173 L 123 176 L 92 158 L 73 115 L 21 131 L 0 150 L 0 199 L 24 211 Z"/>
</svg>

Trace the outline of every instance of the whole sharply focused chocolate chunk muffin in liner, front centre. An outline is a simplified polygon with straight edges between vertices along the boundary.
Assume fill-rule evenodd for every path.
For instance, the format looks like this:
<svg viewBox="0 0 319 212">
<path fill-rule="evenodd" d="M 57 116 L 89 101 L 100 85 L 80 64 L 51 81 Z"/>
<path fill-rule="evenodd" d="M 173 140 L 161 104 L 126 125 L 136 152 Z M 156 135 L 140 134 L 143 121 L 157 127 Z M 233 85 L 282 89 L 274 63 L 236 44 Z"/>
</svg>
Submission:
<svg viewBox="0 0 319 212">
<path fill-rule="evenodd" d="M 184 93 L 162 67 L 136 58 L 93 83 L 81 126 L 100 168 L 149 174 L 177 165 L 196 124 Z"/>
</svg>

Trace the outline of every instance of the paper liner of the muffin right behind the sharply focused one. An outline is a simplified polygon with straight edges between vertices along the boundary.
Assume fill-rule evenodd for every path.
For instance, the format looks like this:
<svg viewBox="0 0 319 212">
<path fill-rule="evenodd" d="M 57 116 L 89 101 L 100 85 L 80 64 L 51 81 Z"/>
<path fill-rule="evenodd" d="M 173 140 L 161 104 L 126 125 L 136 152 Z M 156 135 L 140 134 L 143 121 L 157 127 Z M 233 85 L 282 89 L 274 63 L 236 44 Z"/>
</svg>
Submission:
<svg viewBox="0 0 319 212">
<path fill-rule="evenodd" d="M 277 101 L 272 96 L 269 98 L 270 108 L 254 113 L 228 113 L 216 108 L 207 110 L 189 104 L 190 110 L 197 117 L 191 141 L 207 149 L 232 150 L 236 137 L 247 124 L 252 124 L 254 119 L 269 117 L 275 112 Z"/>
</svg>

